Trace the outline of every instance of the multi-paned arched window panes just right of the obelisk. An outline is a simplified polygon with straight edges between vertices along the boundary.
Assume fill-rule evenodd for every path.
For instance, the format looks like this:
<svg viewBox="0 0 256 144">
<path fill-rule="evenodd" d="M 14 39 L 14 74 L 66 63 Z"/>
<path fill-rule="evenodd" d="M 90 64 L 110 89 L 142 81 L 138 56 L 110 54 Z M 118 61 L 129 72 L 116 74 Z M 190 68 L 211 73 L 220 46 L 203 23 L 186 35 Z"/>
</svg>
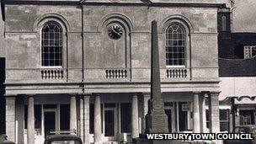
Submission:
<svg viewBox="0 0 256 144">
<path fill-rule="evenodd" d="M 166 65 L 185 65 L 185 30 L 179 24 L 171 24 L 166 30 Z"/>
</svg>

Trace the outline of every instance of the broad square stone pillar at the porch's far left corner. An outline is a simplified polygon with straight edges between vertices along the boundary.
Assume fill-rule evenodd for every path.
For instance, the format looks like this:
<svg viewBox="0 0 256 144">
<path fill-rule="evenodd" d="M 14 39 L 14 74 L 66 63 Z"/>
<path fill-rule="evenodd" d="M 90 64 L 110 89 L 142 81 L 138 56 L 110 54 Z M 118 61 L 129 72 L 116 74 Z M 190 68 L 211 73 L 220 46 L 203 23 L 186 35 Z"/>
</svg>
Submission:
<svg viewBox="0 0 256 144">
<path fill-rule="evenodd" d="M 6 135 L 8 136 L 8 140 L 15 141 L 15 97 L 6 96 Z"/>
</svg>

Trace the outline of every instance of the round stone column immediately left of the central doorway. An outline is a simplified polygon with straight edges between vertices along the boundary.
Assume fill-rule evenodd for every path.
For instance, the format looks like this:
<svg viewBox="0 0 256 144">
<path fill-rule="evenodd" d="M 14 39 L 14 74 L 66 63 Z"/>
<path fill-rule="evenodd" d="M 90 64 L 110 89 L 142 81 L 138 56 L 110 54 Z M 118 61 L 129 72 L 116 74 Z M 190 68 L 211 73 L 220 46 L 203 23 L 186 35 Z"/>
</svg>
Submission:
<svg viewBox="0 0 256 144">
<path fill-rule="evenodd" d="M 100 96 L 95 95 L 94 103 L 94 144 L 102 143 Z"/>
</svg>

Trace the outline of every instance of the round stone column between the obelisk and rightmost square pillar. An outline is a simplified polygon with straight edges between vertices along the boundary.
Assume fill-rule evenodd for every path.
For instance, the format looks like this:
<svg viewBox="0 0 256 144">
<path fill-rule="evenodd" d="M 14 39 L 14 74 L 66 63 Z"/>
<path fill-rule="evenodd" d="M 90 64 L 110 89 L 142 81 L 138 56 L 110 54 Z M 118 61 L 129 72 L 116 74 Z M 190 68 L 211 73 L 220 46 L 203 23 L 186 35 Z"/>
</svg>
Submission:
<svg viewBox="0 0 256 144">
<path fill-rule="evenodd" d="M 199 93 L 193 93 L 193 131 L 200 133 Z"/>
</svg>

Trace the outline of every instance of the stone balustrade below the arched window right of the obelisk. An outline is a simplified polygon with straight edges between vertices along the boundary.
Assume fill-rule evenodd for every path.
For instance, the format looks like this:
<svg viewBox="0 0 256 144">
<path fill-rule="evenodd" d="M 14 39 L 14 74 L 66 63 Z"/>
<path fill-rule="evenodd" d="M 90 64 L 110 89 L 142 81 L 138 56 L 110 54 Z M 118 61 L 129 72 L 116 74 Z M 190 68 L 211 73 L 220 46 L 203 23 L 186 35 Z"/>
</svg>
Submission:
<svg viewBox="0 0 256 144">
<path fill-rule="evenodd" d="M 170 67 L 166 70 L 168 78 L 185 78 L 189 77 L 189 69 L 185 67 Z"/>
</svg>

